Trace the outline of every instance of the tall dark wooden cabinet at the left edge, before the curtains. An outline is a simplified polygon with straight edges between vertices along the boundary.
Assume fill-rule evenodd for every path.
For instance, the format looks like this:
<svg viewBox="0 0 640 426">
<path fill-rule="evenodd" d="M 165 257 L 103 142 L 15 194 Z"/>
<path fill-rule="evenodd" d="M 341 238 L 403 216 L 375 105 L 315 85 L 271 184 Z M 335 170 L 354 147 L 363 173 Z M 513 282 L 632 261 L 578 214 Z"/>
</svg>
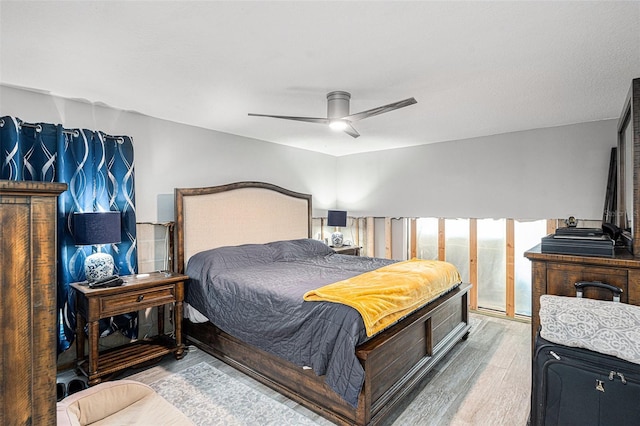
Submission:
<svg viewBox="0 0 640 426">
<path fill-rule="evenodd" d="M 0 424 L 56 424 L 56 205 L 63 183 L 0 180 Z"/>
</svg>

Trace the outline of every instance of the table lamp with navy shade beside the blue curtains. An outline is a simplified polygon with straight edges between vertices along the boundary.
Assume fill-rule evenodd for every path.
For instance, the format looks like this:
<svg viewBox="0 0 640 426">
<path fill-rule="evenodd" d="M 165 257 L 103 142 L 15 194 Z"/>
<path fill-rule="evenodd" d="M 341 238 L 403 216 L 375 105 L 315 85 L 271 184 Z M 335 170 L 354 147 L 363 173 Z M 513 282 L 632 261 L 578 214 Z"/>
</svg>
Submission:
<svg viewBox="0 0 640 426">
<path fill-rule="evenodd" d="M 96 252 L 84 261 L 86 280 L 97 281 L 113 275 L 113 257 L 101 253 L 100 246 L 120 242 L 120 212 L 73 214 L 73 237 L 78 246 L 96 246 Z"/>
</svg>

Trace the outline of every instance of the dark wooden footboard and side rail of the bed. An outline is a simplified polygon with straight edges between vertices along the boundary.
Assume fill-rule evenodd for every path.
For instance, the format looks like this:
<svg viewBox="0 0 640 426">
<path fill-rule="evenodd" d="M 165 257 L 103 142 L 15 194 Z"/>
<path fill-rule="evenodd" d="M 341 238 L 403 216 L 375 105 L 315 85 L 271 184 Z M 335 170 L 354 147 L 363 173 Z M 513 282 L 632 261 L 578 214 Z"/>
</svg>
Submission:
<svg viewBox="0 0 640 426">
<path fill-rule="evenodd" d="M 329 388 L 323 376 L 247 345 L 211 323 L 185 320 L 185 331 L 197 347 L 333 422 L 377 424 L 466 338 L 470 288 L 461 284 L 356 348 L 365 370 L 357 409 Z"/>
</svg>

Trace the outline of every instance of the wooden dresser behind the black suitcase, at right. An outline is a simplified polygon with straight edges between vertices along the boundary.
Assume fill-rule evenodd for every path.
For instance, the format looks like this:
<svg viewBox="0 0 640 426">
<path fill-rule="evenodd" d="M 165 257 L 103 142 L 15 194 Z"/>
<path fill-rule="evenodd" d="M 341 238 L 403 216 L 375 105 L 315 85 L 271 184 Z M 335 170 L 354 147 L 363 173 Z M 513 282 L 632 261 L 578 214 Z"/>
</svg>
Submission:
<svg viewBox="0 0 640 426">
<path fill-rule="evenodd" d="M 600 281 L 622 288 L 620 301 L 640 305 L 640 260 L 624 248 L 614 258 L 542 253 L 540 245 L 525 252 L 531 260 L 531 336 L 540 326 L 540 296 L 554 294 L 575 297 L 578 281 Z M 584 297 L 611 300 L 611 292 L 587 288 Z M 532 340 L 533 342 L 533 340 Z"/>
</svg>

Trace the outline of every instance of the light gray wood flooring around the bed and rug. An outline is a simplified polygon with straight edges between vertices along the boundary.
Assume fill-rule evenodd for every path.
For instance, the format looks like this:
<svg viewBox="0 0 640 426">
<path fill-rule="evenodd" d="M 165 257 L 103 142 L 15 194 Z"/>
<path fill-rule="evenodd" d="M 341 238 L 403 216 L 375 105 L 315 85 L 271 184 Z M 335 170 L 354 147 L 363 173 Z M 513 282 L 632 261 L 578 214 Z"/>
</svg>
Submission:
<svg viewBox="0 0 640 426">
<path fill-rule="evenodd" d="M 531 325 L 477 313 L 472 313 L 470 318 L 472 329 L 469 338 L 456 345 L 429 373 L 387 419 L 385 426 L 527 424 L 531 389 Z M 143 383 L 152 383 L 203 361 L 303 413 L 319 425 L 332 424 L 196 348 L 190 348 L 180 361 L 166 356 L 153 367 L 129 370 L 118 378 L 128 376 Z"/>
</svg>

